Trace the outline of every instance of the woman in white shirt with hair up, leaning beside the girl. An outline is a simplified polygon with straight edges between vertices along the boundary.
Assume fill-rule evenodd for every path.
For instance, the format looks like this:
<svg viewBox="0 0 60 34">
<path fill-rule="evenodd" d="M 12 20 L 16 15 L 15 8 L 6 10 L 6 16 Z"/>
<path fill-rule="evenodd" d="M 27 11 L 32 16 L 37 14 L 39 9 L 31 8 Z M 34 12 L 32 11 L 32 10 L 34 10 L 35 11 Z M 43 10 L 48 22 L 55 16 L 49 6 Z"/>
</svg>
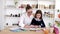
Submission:
<svg viewBox="0 0 60 34">
<path fill-rule="evenodd" d="M 32 19 L 33 19 L 32 7 L 30 5 L 27 5 L 27 7 L 26 7 L 26 13 L 24 13 L 20 17 L 19 26 L 24 27 L 24 28 L 29 28 Z"/>
</svg>

